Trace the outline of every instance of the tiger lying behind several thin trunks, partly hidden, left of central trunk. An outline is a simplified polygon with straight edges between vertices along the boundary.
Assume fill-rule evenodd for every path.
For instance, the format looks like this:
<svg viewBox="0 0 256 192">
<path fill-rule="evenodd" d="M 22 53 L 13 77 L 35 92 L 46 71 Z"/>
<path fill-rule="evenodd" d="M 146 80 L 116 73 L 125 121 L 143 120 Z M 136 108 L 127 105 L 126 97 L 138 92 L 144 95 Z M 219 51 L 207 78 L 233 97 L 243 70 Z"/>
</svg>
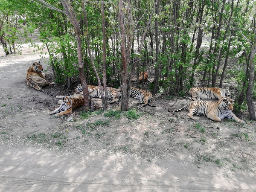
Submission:
<svg viewBox="0 0 256 192">
<path fill-rule="evenodd" d="M 87 85 L 88 87 L 88 91 L 89 91 L 89 95 L 93 98 L 99 98 L 101 99 L 101 93 L 100 93 L 100 89 L 99 89 L 99 86 L 94 86 L 94 85 Z M 103 87 L 102 87 L 103 88 Z M 121 89 L 116 89 L 116 88 L 113 88 L 113 87 L 107 87 L 107 90 L 108 90 L 108 99 L 112 99 L 111 100 L 111 104 L 112 103 L 118 103 L 121 99 L 119 99 L 121 97 Z M 104 90 L 103 91 L 103 95 L 105 96 L 105 92 Z M 83 94 L 83 87 L 81 86 L 81 84 L 79 84 L 77 87 L 76 87 L 76 90 L 75 90 L 75 94 L 77 93 L 81 93 Z M 56 98 L 63 98 L 64 96 L 56 96 Z"/>
</svg>

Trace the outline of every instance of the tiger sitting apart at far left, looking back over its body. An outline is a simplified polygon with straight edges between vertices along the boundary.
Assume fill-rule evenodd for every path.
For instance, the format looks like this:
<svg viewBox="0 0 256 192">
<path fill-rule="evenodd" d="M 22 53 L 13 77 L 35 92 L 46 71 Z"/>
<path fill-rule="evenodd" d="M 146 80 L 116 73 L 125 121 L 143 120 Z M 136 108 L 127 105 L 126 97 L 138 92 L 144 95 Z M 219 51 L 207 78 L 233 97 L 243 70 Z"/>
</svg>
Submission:
<svg viewBox="0 0 256 192">
<path fill-rule="evenodd" d="M 42 87 L 46 85 L 53 85 L 55 84 L 54 82 L 50 83 L 45 79 L 45 74 L 42 73 L 43 67 L 40 64 L 40 61 L 33 63 L 29 69 L 27 70 L 26 74 L 26 82 L 27 85 L 30 87 L 35 88 L 38 91 L 41 91 L 49 96 L 53 96 L 46 91 L 42 90 Z"/>
</svg>

